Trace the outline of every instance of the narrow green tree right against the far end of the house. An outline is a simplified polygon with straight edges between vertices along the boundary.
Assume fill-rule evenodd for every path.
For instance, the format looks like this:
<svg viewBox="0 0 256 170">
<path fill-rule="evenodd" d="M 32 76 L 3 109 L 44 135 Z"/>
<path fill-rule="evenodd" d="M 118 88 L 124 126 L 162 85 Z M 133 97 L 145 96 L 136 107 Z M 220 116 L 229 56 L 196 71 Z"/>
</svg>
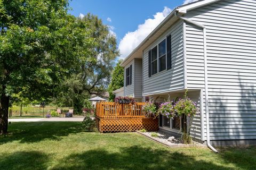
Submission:
<svg viewBox="0 0 256 170">
<path fill-rule="evenodd" d="M 124 68 L 120 66 L 122 63 L 122 60 L 119 60 L 118 63 L 115 66 L 115 69 L 111 76 L 111 83 L 108 87 L 109 92 L 109 100 L 114 100 L 115 95 L 113 94 L 113 91 L 116 89 L 119 89 L 124 86 Z"/>
</svg>

